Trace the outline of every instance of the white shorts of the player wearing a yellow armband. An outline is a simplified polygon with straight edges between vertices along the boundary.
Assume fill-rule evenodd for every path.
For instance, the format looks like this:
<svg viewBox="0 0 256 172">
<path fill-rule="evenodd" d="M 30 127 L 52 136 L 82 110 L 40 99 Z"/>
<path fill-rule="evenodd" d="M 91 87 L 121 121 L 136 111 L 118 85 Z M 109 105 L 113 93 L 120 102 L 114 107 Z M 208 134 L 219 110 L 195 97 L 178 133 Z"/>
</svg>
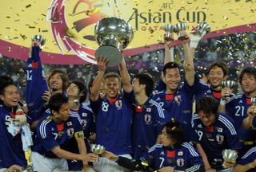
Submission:
<svg viewBox="0 0 256 172">
<path fill-rule="evenodd" d="M 31 162 L 34 171 L 68 171 L 66 159 L 63 158 L 47 158 L 38 152 L 32 151 Z"/>
</svg>

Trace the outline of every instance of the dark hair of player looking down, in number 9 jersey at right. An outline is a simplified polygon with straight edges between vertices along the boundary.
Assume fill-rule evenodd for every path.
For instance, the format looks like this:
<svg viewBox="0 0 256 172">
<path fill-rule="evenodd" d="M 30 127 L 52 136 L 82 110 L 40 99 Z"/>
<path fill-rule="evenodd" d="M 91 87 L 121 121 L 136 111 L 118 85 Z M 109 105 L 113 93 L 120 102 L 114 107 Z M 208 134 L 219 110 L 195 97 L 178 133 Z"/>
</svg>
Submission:
<svg viewBox="0 0 256 172">
<path fill-rule="evenodd" d="M 204 95 L 198 101 L 196 112 L 203 111 L 206 116 L 218 114 L 218 100 L 213 96 Z"/>
</svg>

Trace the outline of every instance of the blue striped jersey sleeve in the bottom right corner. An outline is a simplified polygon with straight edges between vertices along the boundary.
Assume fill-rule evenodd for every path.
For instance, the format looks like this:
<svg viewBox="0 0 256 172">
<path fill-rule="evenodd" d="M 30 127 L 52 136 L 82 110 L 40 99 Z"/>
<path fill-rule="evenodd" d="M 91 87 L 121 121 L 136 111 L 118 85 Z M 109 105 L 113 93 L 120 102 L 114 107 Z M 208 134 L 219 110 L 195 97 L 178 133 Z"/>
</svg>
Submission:
<svg viewBox="0 0 256 172">
<path fill-rule="evenodd" d="M 246 154 L 244 154 L 242 156 L 242 158 L 238 159 L 237 164 L 241 164 L 241 165 L 245 165 L 248 164 L 250 162 L 254 162 L 256 159 L 256 147 L 252 147 L 249 151 L 246 152 Z M 255 172 L 256 171 L 256 167 L 254 169 L 248 170 L 248 172 Z"/>
</svg>

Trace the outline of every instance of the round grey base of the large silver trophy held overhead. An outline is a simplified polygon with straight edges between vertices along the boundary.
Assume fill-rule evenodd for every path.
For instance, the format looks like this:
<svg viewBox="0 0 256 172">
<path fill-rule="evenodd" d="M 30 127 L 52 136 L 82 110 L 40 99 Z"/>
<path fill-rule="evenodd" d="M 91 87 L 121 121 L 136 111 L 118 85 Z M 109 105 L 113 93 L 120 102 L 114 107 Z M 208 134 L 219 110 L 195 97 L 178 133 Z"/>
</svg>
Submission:
<svg viewBox="0 0 256 172">
<path fill-rule="evenodd" d="M 108 67 L 117 66 L 122 61 L 122 52 L 121 50 L 115 48 L 114 46 L 103 45 L 96 50 L 96 57 L 103 56 L 106 57 L 109 61 L 106 64 Z"/>
</svg>

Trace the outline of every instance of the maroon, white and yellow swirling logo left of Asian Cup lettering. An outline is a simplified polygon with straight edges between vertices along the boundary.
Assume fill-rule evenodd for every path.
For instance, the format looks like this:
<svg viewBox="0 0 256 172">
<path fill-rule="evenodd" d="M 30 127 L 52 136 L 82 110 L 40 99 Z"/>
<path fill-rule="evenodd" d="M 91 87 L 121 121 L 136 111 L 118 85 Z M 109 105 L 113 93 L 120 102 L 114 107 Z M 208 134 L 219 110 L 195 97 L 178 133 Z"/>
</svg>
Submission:
<svg viewBox="0 0 256 172">
<path fill-rule="evenodd" d="M 74 52 L 82 60 L 96 63 L 94 54 L 97 45 L 94 38 L 94 24 L 102 18 L 97 7 L 99 0 L 52 0 L 48 9 L 54 41 L 64 54 Z"/>
</svg>

